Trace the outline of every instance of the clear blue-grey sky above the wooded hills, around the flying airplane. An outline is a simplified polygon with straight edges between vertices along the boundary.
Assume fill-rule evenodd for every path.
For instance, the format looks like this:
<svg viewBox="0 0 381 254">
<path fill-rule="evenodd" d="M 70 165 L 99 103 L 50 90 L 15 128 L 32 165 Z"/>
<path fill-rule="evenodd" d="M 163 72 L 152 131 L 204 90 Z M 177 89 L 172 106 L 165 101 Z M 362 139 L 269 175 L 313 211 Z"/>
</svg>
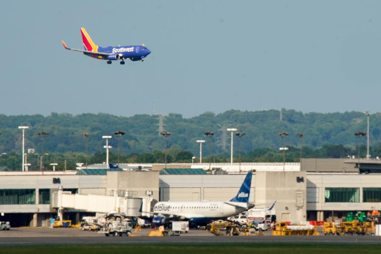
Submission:
<svg viewBox="0 0 381 254">
<path fill-rule="evenodd" d="M 380 112 L 381 1 L 4 1 L 0 113 Z M 144 43 L 125 65 L 82 49 Z"/>
</svg>

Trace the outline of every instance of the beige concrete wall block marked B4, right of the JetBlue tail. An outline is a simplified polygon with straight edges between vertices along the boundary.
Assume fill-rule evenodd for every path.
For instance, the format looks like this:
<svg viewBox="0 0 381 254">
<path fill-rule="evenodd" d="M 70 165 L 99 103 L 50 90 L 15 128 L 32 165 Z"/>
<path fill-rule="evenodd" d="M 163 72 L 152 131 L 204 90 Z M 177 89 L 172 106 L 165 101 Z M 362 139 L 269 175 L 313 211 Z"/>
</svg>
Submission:
<svg viewBox="0 0 381 254">
<path fill-rule="evenodd" d="M 306 172 L 256 172 L 255 203 L 268 204 L 275 200 L 277 220 L 291 223 L 307 220 Z M 297 182 L 299 177 L 300 181 Z"/>
</svg>

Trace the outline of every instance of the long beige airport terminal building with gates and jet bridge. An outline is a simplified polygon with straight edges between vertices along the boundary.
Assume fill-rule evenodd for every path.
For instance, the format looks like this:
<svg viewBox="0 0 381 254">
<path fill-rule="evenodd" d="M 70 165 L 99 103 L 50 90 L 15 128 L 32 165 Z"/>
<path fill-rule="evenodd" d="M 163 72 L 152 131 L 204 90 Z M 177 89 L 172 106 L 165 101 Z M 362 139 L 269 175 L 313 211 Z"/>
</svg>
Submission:
<svg viewBox="0 0 381 254">
<path fill-rule="evenodd" d="M 359 167 L 360 165 L 360 167 Z M 0 221 L 48 227 L 49 220 L 119 212 L 148 216 L 158 201 L 229 200 L 253 171 L 250 202 L 277 220 L 342 220 L 347 212 L 381 209 L 381 162 L 302 159 L 299 163 L 90 165 L 78 171 L 1 171 Z M 217 171 L 210 171 L 216 169 Z M 163 170 L 164 169 L 164 170 Z M 143 214 L 139 208 L 143 207 Z"/>
</svg>

